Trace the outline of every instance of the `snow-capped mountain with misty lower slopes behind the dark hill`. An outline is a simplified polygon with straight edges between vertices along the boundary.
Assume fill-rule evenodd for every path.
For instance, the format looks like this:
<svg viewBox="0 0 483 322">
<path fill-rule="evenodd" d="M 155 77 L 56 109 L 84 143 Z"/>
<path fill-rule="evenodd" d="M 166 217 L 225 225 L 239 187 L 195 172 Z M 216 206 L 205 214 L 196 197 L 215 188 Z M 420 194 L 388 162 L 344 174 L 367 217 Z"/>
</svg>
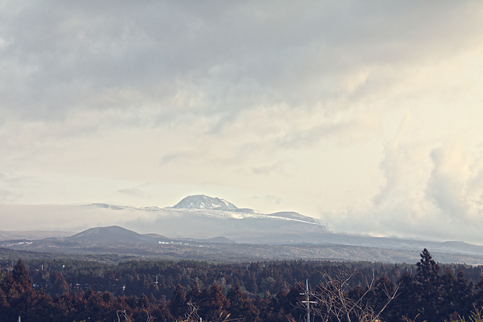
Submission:
<svg viewBox="0 0 483 322">
<path fill-rule="evenodd" d="M 310 234 L 327 232 L 316 218 L 293 211 L 262 214 L 238 208 L 226 200 L 206 195 L 192 195 L 173 207 L 125 207 L 113 204 L 90 204 L 89 209 L 103 209 L 107 216 L 132 221 L 117 222 L 132 230 L 155 232 L 169 238 L 212 238 L 225 236 L 237 242 L 292 243 L 311 242 Z M 105 216 L 105 215 L 104 215 Z M 144 219 L 141 219 L 144 218 Z M 314 235 L 312 235 L 314 236 Z"/>
</svg>

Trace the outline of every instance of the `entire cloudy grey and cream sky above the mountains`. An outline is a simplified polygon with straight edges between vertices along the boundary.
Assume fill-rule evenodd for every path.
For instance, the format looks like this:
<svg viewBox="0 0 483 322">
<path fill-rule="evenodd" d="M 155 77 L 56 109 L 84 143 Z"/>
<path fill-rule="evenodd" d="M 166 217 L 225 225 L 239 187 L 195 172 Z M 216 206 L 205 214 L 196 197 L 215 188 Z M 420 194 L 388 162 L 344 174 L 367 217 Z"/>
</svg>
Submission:
<svg viewBox="0 0 483 322">
<path fill-rule="evenodd" d="M 482 1 L 1 1 L 2 229 L 203 194 L 483 244 L 482 88 Z"/>
</svg>

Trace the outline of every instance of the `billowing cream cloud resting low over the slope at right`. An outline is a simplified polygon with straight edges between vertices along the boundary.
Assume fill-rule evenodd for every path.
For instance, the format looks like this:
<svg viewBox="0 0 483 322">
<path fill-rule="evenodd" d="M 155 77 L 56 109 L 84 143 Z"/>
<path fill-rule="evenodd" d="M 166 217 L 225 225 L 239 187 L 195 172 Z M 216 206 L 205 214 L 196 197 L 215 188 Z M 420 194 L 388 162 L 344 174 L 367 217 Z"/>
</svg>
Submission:
<svg viewBox="0 0 483 322">
<path fill-rule="evenodd" d="M 339 232 L 482 244 L 481 143 L 462 135 L 422 144 L 414 141 L 416 134 L 408 114 L 386 144 L 379 193 L 365 203 L 325 211 L 323 220 Z"/>
</svg>

